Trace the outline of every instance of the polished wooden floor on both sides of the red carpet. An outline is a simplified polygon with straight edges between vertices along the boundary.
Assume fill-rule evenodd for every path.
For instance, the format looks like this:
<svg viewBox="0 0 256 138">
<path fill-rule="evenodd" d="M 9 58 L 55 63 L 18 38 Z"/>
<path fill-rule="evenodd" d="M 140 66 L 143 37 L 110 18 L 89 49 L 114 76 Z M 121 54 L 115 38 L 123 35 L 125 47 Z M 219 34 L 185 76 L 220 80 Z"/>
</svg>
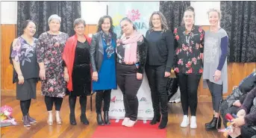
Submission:
<svg viewBox="0 0 256 138">
<path fill-rule="evenodd" d="M 89 97 L 88 97 L 89 98 Z M 63 119 L 62 125 L 48 126 L 46 105 L 42 97 L 37 100 L 32 100 L 30 115 L 37 119 L 36 125 L 31 125 L 31 128 L 25 128 L 22 125 L 22 113 L 19 107 L 19 101 L 13 96 L 1 96 L 1 105 L 7 104 L 13 107 L 13 117 L 20 125 L 1 128 L 2 138 L 90 138 L 96 130 L 96 113 L 93 103 L 93 111 L 90 111 L 90 100 L 87 100 L 87 118 L 90 125 L 81 125 L 80 123 L 80 105 L 79 100 L 75 107 L 76 120 L 78 125 L 69 125 L 69 104 L 68 97 L 64 98 L 62 109 L 60 111 Z M 93 100 L 94 101 L 94 100 Z M 183 117 L 181 104 L 169 104 L 169 122 L 167 126 L 167 138 L 224 138 L 222 133 L 216 131 L 205 131 L 205 122 L 208 122 L 212 117 L 211 103 L 199 103 L 197 110 L 197 125 L 198 128 L 180 128 L 180 123 Z M 122 137 L 120 137 L 122 138 Z"/>
</svg>

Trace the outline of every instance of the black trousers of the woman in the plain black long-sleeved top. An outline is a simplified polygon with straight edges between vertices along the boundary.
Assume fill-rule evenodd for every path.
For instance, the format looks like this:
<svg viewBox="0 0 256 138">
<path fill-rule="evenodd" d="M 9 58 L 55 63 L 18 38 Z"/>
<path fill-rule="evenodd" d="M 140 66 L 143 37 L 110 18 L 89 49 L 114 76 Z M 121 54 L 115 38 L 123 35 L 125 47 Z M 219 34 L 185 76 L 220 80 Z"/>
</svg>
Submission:
<svg viewBox="0 0 256 138">
<path fill-rule="evenodd" d="M 160 111 L 162 116 L 168 116 L 168 94 L 166 89 L 168 78 L 164 77 L 165 69 L 166 66 L 149 65 L 146 65 L 145 68 L 151 90 L 154 116 L 160 116 Z"/>
</svg>

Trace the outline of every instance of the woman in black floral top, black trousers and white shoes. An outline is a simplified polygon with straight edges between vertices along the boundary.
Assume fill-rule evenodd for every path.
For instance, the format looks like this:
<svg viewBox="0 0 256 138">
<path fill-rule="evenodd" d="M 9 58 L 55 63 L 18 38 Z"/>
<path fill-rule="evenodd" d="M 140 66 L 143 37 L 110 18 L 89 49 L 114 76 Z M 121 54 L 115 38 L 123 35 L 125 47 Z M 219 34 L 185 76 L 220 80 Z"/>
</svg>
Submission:
<svg viewBox="0 0 256 138">
<path fill-rule="evenodd" d="M 175 28 L 174 70 L 181 89 L 181 105 L 184 113 L 181 127 L 197 128 L 196 107 L 197 89 L 203 72 L 202 53 L 204 34 L 202 27 L 193 25 L 195 13 L 193 7 L 187 7 L 184 13 L 184 25 Z M 190 107 L 191 122 L 188 118 Z"/>
</svg>

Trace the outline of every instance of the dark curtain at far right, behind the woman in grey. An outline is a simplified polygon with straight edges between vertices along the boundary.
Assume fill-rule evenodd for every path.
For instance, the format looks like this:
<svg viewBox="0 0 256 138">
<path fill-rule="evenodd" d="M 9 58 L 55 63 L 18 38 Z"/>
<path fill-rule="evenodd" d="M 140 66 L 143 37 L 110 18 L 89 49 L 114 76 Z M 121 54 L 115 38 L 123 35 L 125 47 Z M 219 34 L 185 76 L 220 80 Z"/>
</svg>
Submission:
<svg viewBox="0 0 256 138">
<path fill-rule="evenodd" d="M 229 62 L 256 62 L 256 1 L 221 1 L 220 9 L 221 27 L 229 37 Z"/>
</svg>

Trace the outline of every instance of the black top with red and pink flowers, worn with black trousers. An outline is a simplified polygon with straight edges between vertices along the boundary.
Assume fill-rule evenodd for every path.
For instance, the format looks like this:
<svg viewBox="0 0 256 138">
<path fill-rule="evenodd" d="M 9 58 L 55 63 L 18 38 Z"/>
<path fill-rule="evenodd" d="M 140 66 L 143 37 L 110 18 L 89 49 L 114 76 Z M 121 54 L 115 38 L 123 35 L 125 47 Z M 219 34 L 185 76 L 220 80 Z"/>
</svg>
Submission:
<svg viewBox="0 0 256 138">
<path fill-rule="evenodd" d="M 201 26 L 193 25 L 190 32 L 185 26 L 175 28 L 175 62 L 174 71 L 182 74 L 202 74 L 204 52 L 204 35 Z"/>
</svg>

